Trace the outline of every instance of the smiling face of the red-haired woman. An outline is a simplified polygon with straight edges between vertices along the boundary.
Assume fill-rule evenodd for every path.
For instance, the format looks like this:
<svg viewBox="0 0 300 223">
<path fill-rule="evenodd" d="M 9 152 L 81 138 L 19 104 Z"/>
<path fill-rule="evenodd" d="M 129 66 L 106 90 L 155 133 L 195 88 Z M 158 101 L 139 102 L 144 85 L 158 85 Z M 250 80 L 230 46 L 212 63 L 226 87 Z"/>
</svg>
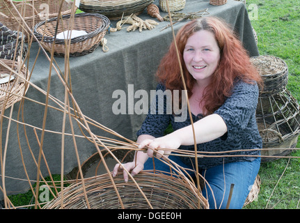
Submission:
<svg viewBox="0 0 300 223">
<path fill-rule="evenodd" d="M 196 31 L 184 47 L 183 59 L 187 70 L 197 82 L 208 84 L 220 60 L 220 49 L 210 31 Z"/>
</svg>

